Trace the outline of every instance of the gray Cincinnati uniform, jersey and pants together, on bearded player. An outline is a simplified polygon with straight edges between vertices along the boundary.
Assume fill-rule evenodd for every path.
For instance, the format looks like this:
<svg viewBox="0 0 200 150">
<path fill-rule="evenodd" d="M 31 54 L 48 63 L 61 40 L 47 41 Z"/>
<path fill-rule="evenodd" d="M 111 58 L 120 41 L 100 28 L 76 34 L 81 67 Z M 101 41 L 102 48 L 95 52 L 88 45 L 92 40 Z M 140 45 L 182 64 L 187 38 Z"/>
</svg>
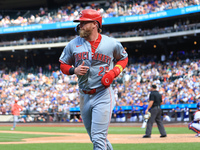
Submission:
<svg viewBox="0 0 200 150">
<path fill-rule="evenodd" d="M 106 70 L 114 67 L 115 62 L 127 56 L 121 43 L 105 35 L 102 35 L 93 57 L 90 43 L 80 37 L 70 41 L 60 56 L 60 60 L 68 65 L 77 67 L 84 61 L 89 66 L 85 75 L 78 75 L 78 84 L 81 116 L 94 150 L 113 150 L 107 132 L 115 105 L 114 92 L 111 87 L 105 88 L 101 79 Z M 83 92 L 92 89 L 100 90 L 94 94 Z"/>
</svg>

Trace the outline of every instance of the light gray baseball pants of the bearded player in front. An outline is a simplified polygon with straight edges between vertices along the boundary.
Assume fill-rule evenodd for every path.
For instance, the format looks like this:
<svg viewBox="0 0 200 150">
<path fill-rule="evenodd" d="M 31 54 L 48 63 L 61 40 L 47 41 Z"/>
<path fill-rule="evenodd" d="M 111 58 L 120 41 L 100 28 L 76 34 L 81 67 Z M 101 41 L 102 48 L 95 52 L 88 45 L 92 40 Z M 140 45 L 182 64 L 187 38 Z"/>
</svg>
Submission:
<svg viewBox="0 0 200 150">
<path fill-rule="evenodd" d="M 107 140 L 107 132 L 114 102 L 114 93 L 111 88 L 91 95 L 80 94 L 81 116 L 90 140 L 93 142 L 94 150 L 107 150 L 105 141 L 112 150 Z"/>
</svg>

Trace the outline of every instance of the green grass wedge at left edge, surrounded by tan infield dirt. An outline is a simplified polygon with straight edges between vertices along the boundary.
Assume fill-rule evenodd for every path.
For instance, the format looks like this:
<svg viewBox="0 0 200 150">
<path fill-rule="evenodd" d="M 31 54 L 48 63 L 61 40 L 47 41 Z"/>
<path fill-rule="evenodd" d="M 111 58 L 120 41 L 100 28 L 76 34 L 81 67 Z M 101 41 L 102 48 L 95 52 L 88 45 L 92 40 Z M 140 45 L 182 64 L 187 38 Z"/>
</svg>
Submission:
<svg viewBox="0 0 200 150">
<path fill-rule="evenodd" d="M 25 138 L 52 137 L 52 136 L 60 136 L 60 135 L 0 133 L 0 142 L 19 142 L 23 141 L 22 139 Z"/>
</svg>

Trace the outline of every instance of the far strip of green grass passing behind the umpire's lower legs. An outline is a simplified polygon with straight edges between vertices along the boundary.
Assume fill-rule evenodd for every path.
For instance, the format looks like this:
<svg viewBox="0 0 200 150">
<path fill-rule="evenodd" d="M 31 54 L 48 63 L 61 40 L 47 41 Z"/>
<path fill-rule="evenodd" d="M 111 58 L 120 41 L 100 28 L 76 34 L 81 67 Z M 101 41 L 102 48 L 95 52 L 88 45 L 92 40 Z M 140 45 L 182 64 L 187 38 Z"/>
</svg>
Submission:
<svg viewBox="0 0 200 150">
<path fill-rule="evenodd" d="M 165 127 L 167 134 L 193 133 L 187 127 Z M 2 127 L 1 130 L 10 130 L 10 127 Z M 84 127 L 17 127 L 15 131 L 32 132 L 58 132 L 58 133 L 87 133 Z M 140 127 L 109 127 L 108 134 L 144 134 L 145 129 Z M 158 128 L 152 129 L 152 134 L 159 134 Z"/>
</svg>

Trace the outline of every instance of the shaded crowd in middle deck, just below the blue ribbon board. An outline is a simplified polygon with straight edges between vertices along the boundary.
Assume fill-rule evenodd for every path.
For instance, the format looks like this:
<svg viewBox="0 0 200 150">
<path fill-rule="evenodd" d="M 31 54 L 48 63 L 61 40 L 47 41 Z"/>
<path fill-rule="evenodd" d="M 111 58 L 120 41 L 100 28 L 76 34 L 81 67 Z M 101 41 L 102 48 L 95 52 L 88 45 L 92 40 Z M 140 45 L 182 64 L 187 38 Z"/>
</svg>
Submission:
<svg viewBox="0 0 200 150">
<path fill-rule="evenodd" d="M 174 22 L 171 26 L 159 27 L 155 25 L 153 28 L 136 28 L 132 30 L 126 30 L 121 32 L 110 32 L 104 30 L 102 34 L 105 34 L 110 37 L 114 38 L 126 38 L 126 37 L 140 37 L 140 36 L 151 36 L 151 35 L 160 35 L 166 33 L 173 33 L 173 32 L 182 32 L 182 31 L 190 31 L 190 30 L 197 30 L 200 28 L 200 23 L 198 20 L 193 19 L 179 19 L 178 21 Z M 30 35 L 24 35 L 21 39 L 14 40 L 14 41 L 2 41 L 0 42 L 0 47 L 4 46 L 14 46 L 14 45 L 35 45 L 35 44 L 47 44 L 47 43 L 59 43 L 59 42 L 67 42 L 71 39 L 75 38 L 77 35 L 66 35 L 66 36 L 58 36 L 58 37 L 31 37 Z M 5 40 L 5 39 L 4 39 Z"/>
</svg>

